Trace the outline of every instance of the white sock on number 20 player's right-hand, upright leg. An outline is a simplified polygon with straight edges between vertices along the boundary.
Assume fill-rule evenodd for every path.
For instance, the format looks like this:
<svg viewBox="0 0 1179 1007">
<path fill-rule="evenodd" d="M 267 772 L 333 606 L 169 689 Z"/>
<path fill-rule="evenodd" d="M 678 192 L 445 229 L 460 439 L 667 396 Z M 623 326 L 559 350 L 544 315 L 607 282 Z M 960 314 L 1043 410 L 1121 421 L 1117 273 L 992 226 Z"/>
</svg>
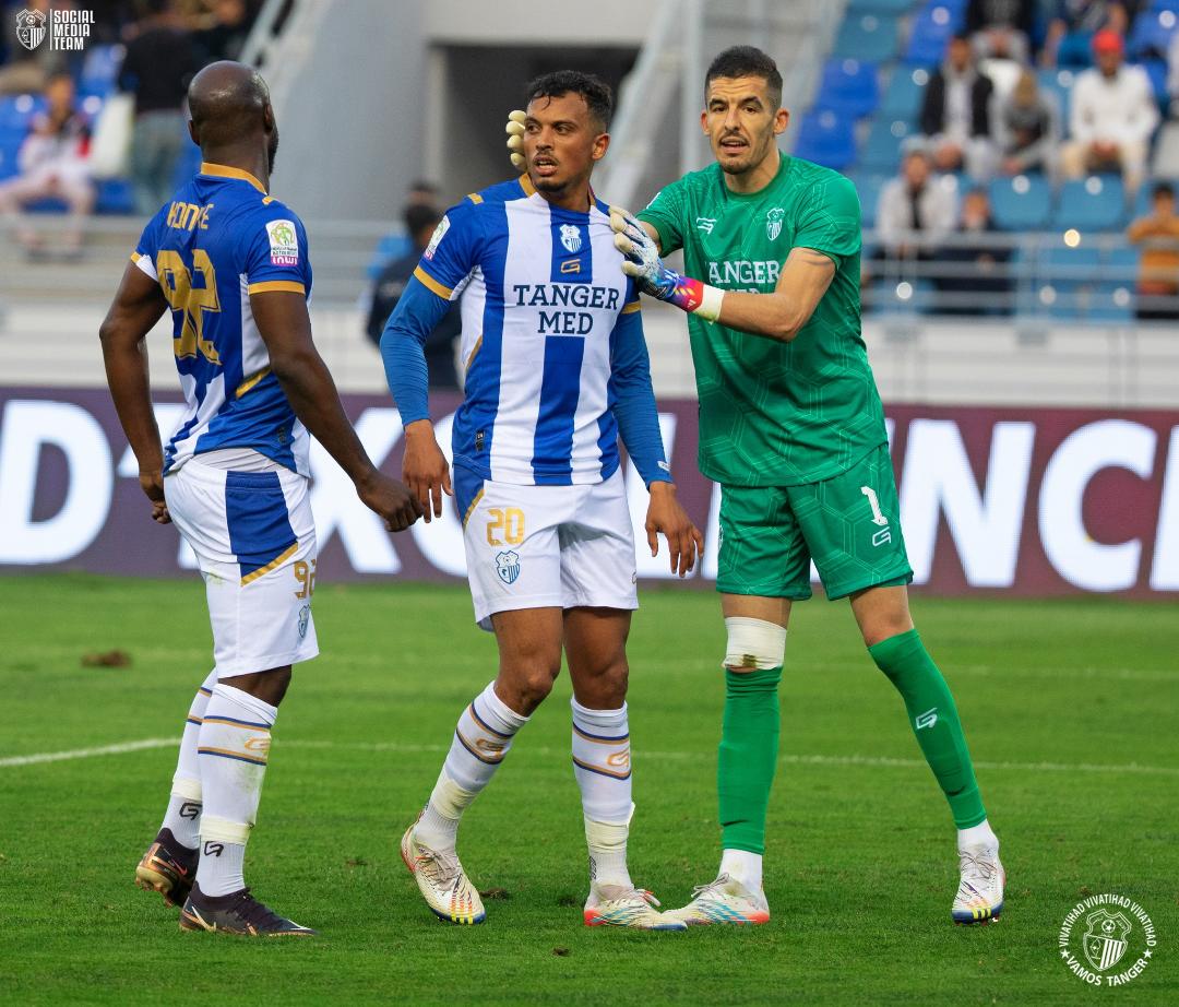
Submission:
<svg viewBox="0 0 1179 1007">
<path fill-rule="evenodd" d="M 573 707 L 573 775 L 581 790 L 590 880 L 631 888 L 626 840 L 631 815 L 631 731 L 626 704 L 618 710 Z"/>
</svg>

